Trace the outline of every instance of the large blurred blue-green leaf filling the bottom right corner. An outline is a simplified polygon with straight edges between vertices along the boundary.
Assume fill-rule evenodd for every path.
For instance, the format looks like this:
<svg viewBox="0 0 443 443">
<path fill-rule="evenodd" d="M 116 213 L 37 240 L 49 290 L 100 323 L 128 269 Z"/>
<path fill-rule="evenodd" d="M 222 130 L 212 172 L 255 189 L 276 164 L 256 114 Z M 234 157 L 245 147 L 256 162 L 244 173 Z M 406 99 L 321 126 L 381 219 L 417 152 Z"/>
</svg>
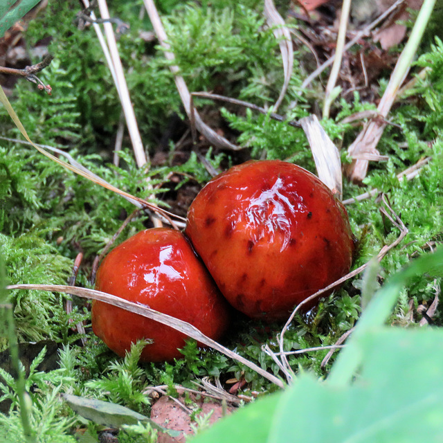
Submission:
<svg viewBox="0 0 443 443">
<path fill-rule="evenodd" d="M 301 377 L 275 410 L 269 443 L 442 441 L 443 330 L 383 327 L 358 345 L 359 379 L 336 387 Z"/>
</svg>

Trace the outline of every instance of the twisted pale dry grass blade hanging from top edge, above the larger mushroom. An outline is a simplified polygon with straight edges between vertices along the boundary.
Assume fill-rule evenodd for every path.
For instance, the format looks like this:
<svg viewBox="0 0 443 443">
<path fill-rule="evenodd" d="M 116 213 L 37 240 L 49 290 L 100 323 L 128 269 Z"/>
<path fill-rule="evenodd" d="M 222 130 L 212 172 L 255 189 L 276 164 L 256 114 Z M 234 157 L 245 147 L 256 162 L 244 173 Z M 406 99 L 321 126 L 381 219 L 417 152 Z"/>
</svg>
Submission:
<svg viewBox="0 0 443 443">
<path fill-rule="evenodd" d="M 291 33 L 287 28 L 282 16 L 275 9 L 275 5 L 272 0 L 264 0 L 264 17 L 266 17 L 267 24 L 273 29 L 273 34 L 277 38 L 280 46 L 280 52 L 282 53 L 284 82 L 280 96 L 275 102 L 274 111 L 277 111 L 280 106 L 284 94 L 289 86 L 289 80 L 291 80 L 292 68 L 293 68 L 293 47 Z"/>
</svg>

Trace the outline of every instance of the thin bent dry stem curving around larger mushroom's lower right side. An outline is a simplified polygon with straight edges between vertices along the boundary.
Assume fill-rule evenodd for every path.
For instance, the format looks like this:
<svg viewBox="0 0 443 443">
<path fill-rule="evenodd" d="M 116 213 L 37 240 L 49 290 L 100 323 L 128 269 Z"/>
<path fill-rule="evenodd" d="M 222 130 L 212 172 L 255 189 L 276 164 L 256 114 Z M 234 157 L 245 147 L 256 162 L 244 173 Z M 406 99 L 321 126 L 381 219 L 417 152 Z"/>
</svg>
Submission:
<svg viewBox="0 0 443 443">
<path fill-rule="evenodd" d="M 388 219 L 390 219 L 390 221 L 392 222 L 392 224 L 394 224 L 397 228 L 399 228 L 400 230 L 400 235 L 399 237 L 397 237 L 397 239 L 395 239 L 394 242 L 392 242 L 389 245 L 385 245 L 383 246 L 383 248 L 381 248 L 380 252 L 377 254 L 377 260 L 380 262 L 381 260 L 383 260 L 383 257 L 385 257 L 385 255 L 392 249 L 395 248 L 395 246 L 397 246 L 397 244 L 399 244 L 404 237 L 406 236 L 406 234 L 408 233 L 408 228 L 406 228 L 406 226 L 404 225 L 403 221 L 401 221 L 401 219 L 399 218 L 399 216 L 394 212 L 394 210 L 392 210 L 392 208 L 389 206 L 388 201 L 386 201 L 386 197 L 383 195 L 381 197 L 383 204 L 385 204 L 386 208 L 388 208 L 388 210 L 390 211 L 391 215 L 389 215 L 385 208 L 381 207 L 380 210 L 381 212 L 386 215 L 388 217 Z M 302 302 L 300 302 L 299 305 L 297 305 L 296 309 L 294 309 L 292 311 L 291 316 L 289 316 L 286 324 L 284 325 L 282 332 L 280 333 L 280 338 L 278 338 L 278 341 L 280 342 L 280 354 L 281 354 L 281 360 L 282 360 L 282 364 L 287 368 L 287 372 L 289 372 L 289 378 L 287 378 L 287 381 L 290 383 L 291 380 L 293 379 L 293 376 L 291 374 L 291 372 L 293 373 L 293 371 L 291 370 L 291 367 L 289 366 L 289 363 L 287 361 L 286 356 L 284 355 L 284 349 L 283 349 L 283 338 L 284 338 L 284 333 L 287 331 L 289 325 L 292 323 L 293 318 L 296 316 L 296 314 L 298 313 L 298 311 L 300 311 L 300 309 L 307 305 L 309 302 L 316 300 L 321 294 L 325 293 L 326 291 L 329 291 L 329 289 L 333 289 L 334 287 L 339 286 L 340 284 L 342 284 L 343 282 L 345 282 L 346 280 L 349 280 L 350 278 L 353 278 L 355 275 L 358 275 L 359 273 L 361 273 L 362 271 L 365 270 L 366 267 L 368 267 L 368 265 L 370 264 L 370 261 L 362 264 L 359 268 L 354 269 L 354 271 L 346 274 L 344 277 L 339 278 L 338 280 L 336 280 L 335 282 L 329 284 L 327 287 L 320 289 L 319 291 L 317 291 L 316 293 L 312 294 L 311 296 L 309 296 L 308 298 L 306 298 L 305 300 L 303 300 Z M 285 372 L 286 373 L 286 372 Z"/>
</svg>

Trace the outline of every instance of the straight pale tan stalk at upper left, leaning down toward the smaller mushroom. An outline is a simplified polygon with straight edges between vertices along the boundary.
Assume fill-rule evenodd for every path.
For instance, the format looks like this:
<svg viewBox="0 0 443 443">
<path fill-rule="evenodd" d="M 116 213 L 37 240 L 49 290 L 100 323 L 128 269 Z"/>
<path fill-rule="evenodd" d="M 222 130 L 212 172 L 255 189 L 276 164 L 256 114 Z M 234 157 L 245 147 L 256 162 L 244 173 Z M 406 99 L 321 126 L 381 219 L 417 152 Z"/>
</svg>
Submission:
<svg viewBox="0 0 443 443">
<path fill-rule="evenodd" d="M 106 0 L 98 0 L 98 6 L 100 8 L 102 19 L 109 19 L 110 17 Z M 123 66 L 120 60 L 120 55 L 118 54 L 114 28 L 112 27 L 112 24 L 109 23 L 109 21 L 104 23 L 103 26 L 105 28 L 109 52 L 111 53 L 112 64 L 116 71 L 116 80 L 118 82 L 120 90 L 120 101 L 123 106 L 123 111 L 125 112 L 127 129 L 132 141 L 132 148 L 134 150 L 137 165 L 139 168 L 141 168 L 143 165 L 145 165 L 145 163 L 147 163 L 147 158 L 145 155 L 145 150 L 143 148 L 143 143 L 141 141 L 140 132 L 138 132 L 138 125 L 136 116 L 134 114 L 134 108 L 132 107 L 131 99 L 129 98 L 129 90 L 127 89 L 127 83 L 125 79 L 125 74 L 123 73 Z"/>
</svg>

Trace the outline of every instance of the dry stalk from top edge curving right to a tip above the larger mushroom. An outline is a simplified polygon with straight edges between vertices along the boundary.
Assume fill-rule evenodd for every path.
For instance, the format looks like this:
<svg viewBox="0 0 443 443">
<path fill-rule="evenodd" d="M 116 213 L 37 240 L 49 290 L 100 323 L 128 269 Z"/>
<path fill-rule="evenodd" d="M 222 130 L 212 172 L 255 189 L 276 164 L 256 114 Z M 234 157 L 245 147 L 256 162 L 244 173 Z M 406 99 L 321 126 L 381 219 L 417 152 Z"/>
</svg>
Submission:
<svg viewBox="0 0 443 443">
<path fill-rule="evenodd" d="M 165 57 L 170 60 L 174 61 L 175 56 L 170 51 L 170 46 L 166 42 L 168 39 L 168 36 L 165 33 L 165 29 L 163 28 L 163 24 L 161 23 L 161 19 L 159 16 L 159 12 L 157 11 L 154 1 L 153 0 L 143 0 L 143 3 L 145 4 L 145 8 L 147 10 L 148 15 L 150 16 L 150 20 L 152 23 L 152 26 L 154 28 L 154 31 L 156 33 L 157 39 L 159 39 L 159 42 L 163 48 L 165 48 Z M 188 87 L 186 86 L 186 82 L 183 79 L 181 75 L 179 75 L 179 66 L 177 65 L 170 65 L 170 71 L 174 74 L 174 82 L 177 86 L 177 89 L 180 94 L 181 101 L 183 102 L 183 106 L 185 107 L 186 114 L 188 114 L 188 117 L 192 118 L 192 107 L 191 107 L 191 96 L 190 92 L 188 90 Z M 217 147 L 221 147 L 224 149 L 229 150 L 239 150 L 241 147 L 233 145 L 233 143 L 230 143 L 226 138 L 219 136 L 217 132 L 215 132 L 213 129 L 211 129 L 206 123 L 204 123 L 203 120 L 201 120 L 201 117 L 197 112 L 195 112 L 195 125 L 199 132 L 203 134 L 206 139 L 209 141 L 209 143 L 212 143 L 213 145 Z"/>
</svg>

